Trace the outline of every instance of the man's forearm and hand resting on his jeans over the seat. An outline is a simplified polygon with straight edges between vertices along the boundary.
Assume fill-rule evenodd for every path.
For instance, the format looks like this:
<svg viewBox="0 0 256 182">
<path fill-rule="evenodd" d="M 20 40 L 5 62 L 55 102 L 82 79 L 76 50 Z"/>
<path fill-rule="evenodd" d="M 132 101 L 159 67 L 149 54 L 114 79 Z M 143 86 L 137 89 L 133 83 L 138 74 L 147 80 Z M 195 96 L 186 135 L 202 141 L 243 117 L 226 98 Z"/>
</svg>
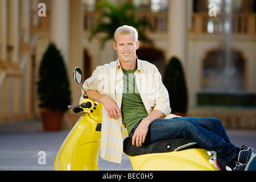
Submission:
<svg viewBox="0 0 256 182">
<path fill-rule="evenodd" d="M 148 127 L 155 119 L 162 119 L 166 117 L 166 115 L 160 111 L 160 110 L 152 110 L 152 112 L 144 119 L 142 119 L 141 123 L 139 123 L 139 126 L 134 131 L 132 144 L 134 145 L 134 142 L 136 140 L 136 146 L 139 147 L 142 145 L 142 143 L 145 141 L 146 135 L 148 133 Z"/>
</svg>

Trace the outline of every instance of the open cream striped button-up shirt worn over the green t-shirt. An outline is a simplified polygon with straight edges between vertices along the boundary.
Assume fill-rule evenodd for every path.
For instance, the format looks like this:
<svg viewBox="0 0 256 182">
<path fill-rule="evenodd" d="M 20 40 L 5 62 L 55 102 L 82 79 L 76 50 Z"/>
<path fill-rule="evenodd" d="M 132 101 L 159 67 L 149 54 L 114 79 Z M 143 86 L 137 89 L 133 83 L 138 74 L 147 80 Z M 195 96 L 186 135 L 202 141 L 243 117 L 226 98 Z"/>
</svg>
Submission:
<svg viewBox="0 0 256 182">
<path fill-rule="evenodd" d="M 167 117 L 170 114 L 170 102 L 167 89 L 155 65 L 137 59 L 137 70 L 134 72 L 138 92 L 143 104 L 150 114 L 153 109 L 162 111 Z M 123 72 L 119 60 L 99 66 L 83 85 L 84 89 L 97 90 L 112 98 L 121 110 L 123 95 Z M 128 137 L 122 118 L 110 118 L 102 109 L 101 158 L 114 163 L 121 163 L 123 140 Z"/>
</svg>

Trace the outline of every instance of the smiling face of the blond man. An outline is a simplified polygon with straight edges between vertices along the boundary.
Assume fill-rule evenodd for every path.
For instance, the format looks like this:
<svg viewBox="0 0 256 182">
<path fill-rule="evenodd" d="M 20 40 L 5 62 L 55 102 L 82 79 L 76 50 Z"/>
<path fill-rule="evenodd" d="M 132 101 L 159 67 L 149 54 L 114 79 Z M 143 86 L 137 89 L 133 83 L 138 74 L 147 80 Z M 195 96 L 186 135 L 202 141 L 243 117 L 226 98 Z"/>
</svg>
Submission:
<svg viewBox="0 0 256 182">
<path fill-rule="evenodd" d="M 132 70 L 136 66 L 136 50 L 139 48 L 139 41 L 135 41 L 134 35 L 118 34 L 113 43 L 117 50 L 121 67 L 126 70 Z"/>
</svg>

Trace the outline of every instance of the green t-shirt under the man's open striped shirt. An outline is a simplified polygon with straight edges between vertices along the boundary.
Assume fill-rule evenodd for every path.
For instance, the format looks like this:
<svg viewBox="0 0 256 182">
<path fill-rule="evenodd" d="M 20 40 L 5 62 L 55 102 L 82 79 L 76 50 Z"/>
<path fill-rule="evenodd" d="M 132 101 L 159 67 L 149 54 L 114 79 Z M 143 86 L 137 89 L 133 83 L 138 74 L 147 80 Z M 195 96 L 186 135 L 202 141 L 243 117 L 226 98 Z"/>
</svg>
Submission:
<svg viewBox="0 0 256 182">
<path fill-rule="evenodd" d="M 139 95 L 134 72 L 123 70 L 123 98 L 121 105 L 121 113 L 123 125 L 125 125 L 130 134 L 133 127 L 143 118 L 147 117 L 148 113 Z"/>
</svg>

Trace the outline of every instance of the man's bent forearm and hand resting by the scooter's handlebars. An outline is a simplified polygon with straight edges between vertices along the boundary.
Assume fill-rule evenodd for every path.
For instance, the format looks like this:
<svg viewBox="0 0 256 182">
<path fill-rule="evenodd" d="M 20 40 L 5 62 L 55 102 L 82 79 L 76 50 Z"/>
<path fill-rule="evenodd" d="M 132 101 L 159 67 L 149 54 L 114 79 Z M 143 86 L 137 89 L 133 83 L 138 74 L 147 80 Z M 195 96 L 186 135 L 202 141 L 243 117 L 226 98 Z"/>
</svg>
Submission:
<svg viewBox="0 0 256 182">
<path fill-rule="evenodd" d="M 121 111 L 119 110 L 117 104 L 112 100 L 112 98 L 104 94 L 100 94 L 96 90 L 86 90 L 85 93 L 86 96 L 90 98 L 90 100 L 102 103 L 110 118 L 117 119 L 118 115 L 122 118 Z"/>
</svg>

